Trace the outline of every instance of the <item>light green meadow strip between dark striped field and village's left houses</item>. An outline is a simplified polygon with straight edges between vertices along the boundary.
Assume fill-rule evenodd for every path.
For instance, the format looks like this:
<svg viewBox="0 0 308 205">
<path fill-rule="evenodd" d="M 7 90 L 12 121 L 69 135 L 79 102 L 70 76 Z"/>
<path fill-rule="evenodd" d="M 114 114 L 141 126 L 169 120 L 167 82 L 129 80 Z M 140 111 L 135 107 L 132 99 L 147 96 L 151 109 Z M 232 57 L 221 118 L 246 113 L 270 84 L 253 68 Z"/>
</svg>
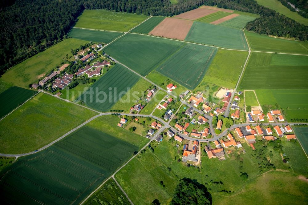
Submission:
<svg viewBox="0 0 308 205">
<path fill-rule="evenodd" d="M 111 110 L 124 110 L 124 112 L 129 112 L 130 108 L 135 105 L 144 96 L 144 93 L 151 86 L 151 83 L 140 78 L 138 82 L 131 89 L 120 98 Z"/>
</svg>

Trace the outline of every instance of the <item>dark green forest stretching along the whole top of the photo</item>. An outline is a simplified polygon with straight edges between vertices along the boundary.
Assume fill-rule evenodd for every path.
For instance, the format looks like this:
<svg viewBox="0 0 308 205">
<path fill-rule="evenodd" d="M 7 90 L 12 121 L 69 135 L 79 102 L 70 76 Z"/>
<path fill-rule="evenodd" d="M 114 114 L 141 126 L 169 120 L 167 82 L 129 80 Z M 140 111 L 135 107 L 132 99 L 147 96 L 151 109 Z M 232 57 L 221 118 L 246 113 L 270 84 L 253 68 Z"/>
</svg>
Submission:
<svg viewBox="0 0 308 205">
<path fill-rule="evenodd" d="M 0 4 L 0 75 L 63 38 L 84 9 L 107 9 L 143 15 L 172 16 L 201 5 L 229 8 L 260 14 L 246 25 L 258 34 L 295 37 L 307 40 L 304 26 L 260 6 L 254 0 L 3 0 Z"/>
</svg>

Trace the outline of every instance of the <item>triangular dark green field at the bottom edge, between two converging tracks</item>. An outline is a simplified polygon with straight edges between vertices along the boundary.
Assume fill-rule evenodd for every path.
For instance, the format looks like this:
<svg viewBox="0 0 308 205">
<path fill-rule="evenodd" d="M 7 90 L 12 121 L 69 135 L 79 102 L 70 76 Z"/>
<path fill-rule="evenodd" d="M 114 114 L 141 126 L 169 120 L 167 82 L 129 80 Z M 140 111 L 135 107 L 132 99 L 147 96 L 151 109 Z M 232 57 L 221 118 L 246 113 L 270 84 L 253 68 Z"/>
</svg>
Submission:
<svg viewBox="0 0 308 205">
<path fill-rule="evenodd" d="M 102 187 L 99 188 L 87 201 L 83 204 L 124 204 L 129 205 L 129 201 L 120 190 L 113 179 L 109 179 Z"/>
</svg>

